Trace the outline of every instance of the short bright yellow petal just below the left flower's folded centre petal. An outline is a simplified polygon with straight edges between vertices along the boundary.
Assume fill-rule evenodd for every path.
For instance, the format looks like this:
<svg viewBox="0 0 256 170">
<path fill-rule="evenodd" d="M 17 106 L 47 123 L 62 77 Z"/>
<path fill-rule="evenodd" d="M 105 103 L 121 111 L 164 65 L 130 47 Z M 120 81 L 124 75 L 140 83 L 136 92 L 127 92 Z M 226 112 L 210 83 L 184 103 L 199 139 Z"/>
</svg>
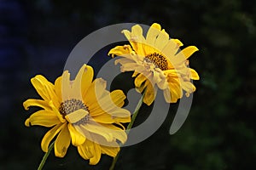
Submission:
<svg viewBox="0 0 256 170">
<path fill-rule="evenodd" d="M 71 123 L 68 123 L 68 130 L 72 139 L 72 144 L 74 146 L 79 146 L 81 144 L 84 144 L 85 137 L 82 133 L 79 133 L 79 131 L 76 130 L 75 127 Z"/>
</svg>

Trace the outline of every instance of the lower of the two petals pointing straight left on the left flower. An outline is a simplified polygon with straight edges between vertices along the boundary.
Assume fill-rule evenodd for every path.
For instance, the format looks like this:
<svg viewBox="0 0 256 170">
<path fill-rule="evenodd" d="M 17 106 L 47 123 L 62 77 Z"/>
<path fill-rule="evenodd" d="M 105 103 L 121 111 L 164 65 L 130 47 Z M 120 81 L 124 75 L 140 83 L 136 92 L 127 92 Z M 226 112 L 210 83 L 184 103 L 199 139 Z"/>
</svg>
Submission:
<svg viewBox="0 0 256 170">
<path fill-rule="evenodd" d="M 29 120 L 29 124 L 33 125 L 39 125 L 43 127 L 52 127 L 56 124 L 60 123 L 58 117 L 51 111 L 37 111 L 32 114 L 32 116 L 27 119 Z M 28 125 L 28 122 L 26 121 L 26 126 Z"/>
</svg>

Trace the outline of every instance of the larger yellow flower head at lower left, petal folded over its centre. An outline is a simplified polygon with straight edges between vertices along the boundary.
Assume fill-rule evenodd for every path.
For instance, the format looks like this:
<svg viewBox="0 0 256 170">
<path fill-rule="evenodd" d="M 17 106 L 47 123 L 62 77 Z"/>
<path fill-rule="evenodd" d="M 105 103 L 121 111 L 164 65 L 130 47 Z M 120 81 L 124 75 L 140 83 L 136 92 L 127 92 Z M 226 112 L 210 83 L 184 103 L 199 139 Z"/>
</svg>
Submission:
<svg viewBox="0 0 256 170">
<path fill-rule="evenodd" d="M 68 71 L 55 84 L 41 75 L 32 78 L 43 99 L 27 99 L 23 105 L 26 110 L 30 106 L 43 110 L 33 113 L 25 124 L 52 127 L 42 139 L 44 152 L 55 139 L 55 156 L 63 157 L 72 143 L 80 156 L 95 165 L 102 154 L 116 156 L 119 143 L 125 143 L 127 135 L 121 123 L 131 122 L 130 112 L 120 108 L 125 94 L 121 90 L 108 92 L 101 78 L 92 82 L 93 74 L 89 65 L 83 65 L 73 81 Z"/>
</svg>

